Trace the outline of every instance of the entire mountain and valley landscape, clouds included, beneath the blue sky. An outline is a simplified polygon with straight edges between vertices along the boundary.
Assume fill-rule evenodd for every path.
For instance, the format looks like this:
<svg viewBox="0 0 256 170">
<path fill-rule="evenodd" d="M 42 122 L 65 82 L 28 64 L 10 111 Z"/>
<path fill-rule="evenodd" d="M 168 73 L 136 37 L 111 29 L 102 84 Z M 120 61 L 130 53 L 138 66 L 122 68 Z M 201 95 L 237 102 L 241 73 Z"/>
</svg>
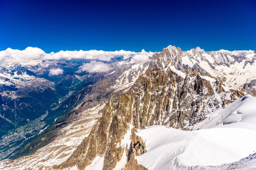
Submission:
<svg viewBox="0 0 256 170">
<path fill-rule="evenodd" d="M 256 52 L 0 52 L 0 169 L 256 168 Z"/>
</svg>

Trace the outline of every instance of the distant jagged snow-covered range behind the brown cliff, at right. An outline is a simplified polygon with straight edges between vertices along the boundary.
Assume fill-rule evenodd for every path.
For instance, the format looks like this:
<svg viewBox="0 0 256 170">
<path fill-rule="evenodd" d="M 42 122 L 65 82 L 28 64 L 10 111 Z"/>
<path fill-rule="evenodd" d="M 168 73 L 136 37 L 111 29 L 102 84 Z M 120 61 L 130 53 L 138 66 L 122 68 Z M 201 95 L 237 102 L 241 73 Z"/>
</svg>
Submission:
<svg viewBox="0 0 256 170">
<path fill-rule="evenodd" d="M 254 90 L 256 88 L 256 52 L 252 50 L 205 52 L 198 47 L 182 51 L 175 46 L 168 46 L 162 52 L 154 54 L 153 59 L 157 67 L 164 68 L 165 65 L 173 64 L 178 70 L 197 70 L 201 74 L 219 77 L 226 86 L 236 89 L 245 83 L 251 83 Z"/>
</svg>

